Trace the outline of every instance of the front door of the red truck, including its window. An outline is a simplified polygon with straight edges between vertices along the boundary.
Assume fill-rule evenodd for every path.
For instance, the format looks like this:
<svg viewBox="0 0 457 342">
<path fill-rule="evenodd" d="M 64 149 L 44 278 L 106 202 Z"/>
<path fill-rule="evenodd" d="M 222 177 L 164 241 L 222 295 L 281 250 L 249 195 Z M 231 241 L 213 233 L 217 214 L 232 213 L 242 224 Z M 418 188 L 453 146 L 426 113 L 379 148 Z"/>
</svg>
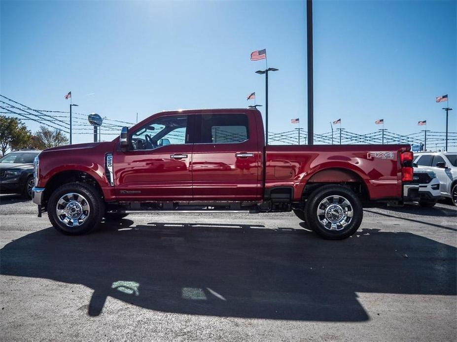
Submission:
<svg viewBox="0 0 457 342">
<path fill-rule="evenodd" d="M 190 115 L 164 115 L 129 132 L 129 150 L 113 154 L 120 200 L 192 199 L 190 121 Z"/>
</svg>

